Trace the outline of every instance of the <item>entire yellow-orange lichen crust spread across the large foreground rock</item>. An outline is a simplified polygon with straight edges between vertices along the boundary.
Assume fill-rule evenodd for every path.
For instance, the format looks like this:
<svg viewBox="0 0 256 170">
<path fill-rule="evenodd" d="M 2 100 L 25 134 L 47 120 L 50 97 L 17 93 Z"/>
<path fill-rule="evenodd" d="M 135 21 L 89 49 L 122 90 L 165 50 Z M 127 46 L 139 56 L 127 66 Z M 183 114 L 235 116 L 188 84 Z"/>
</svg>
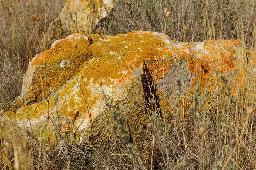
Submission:
<svg viewBox="0 0 256 170">
<path fill-rule="evenodd" d="M 207 40 L 202 45 L 207 53 L 203 53 L 194 49 L 193 43 L 183 44 L 179 48 L 179 46 L 166 44 L 157 35 L 148 31 L 136 31 L 116 36 L 103 35 L 107 43 L 99 35 L 88 35 L 88 37 L 87 40 L 83 33 L 74 34 L 68 39 L 57 42 L 54 48 L 33 59 L 31 62 L 34 68 L 32 83 L 26 85 L 26 87 L 29 86 L 26 99 L 30 103 L 25 107 L 20 104 L 20 107 L 23 107 L 19 110 L 20 119 L 21 113 L 25 111 L 28 113 L 27 117 L 30 118 L 46 113 L 47 103 L 43 101 L 42 92 L 46 98 L 54 88 L 54 92 L 58 95 L 58 103 L 54 102 L 55 95 L 50 96 L 49 110 L 57 107 L 58 114 L 67 118 L 73 118 L 74 113 L 79 111 L 81 113 L 79 119 L 88 120 L 87 103 L 91 109 L 94 109 L 91 112 L 92 117 L 98 114 L 99 110 L 96 108 L 100 108 L 100 102 L 102 102 L 100 86 L 122 91 L 120 94 L 123 96 L 115 96 L 116 100 L 122 99 L 125 96 L 124 92 L 127 91 L 124 81 L 135 81 L 132 77 L 134 69 L 143 70 L 143 62 L 156 81 L 168 73 L 170 65 L 179 60 L 187 62 L 189 73 L 195 76 L 187 92 L 189 96 L 193 94 L 198 81 L 200 91 L 204 91 L 209 82 L 207 91 L 214 90 L 216 69 L 218 74 L 228 74 L 237 67 L 237 63 L 232 59 L 236 54 L 234 47 L 237 46 L 237 40 Z M 73 48 L 75 41 L 78 44 L 77 48 Z M 160 47 L 163 44 L 165 48 L 162 51 Z M 46 82 L 44 60 L 47 67 Z M 64 63 L 63 67 L 61 63 Z M 101 85 L 99 85 L 100 79 Z M 243 83 L 243 79 L 244 75 L 239 72 L 239 76 L 236 77 L 239 85 Z M 236 89 L 233 90 L 236 91 Z M 180 105 L 188 106 L 188 99 L 184 101 L 185 103 L 181 101 Z M 162 108 L 164 108 L 164 103 L 160 100 Z"/>
</svg>

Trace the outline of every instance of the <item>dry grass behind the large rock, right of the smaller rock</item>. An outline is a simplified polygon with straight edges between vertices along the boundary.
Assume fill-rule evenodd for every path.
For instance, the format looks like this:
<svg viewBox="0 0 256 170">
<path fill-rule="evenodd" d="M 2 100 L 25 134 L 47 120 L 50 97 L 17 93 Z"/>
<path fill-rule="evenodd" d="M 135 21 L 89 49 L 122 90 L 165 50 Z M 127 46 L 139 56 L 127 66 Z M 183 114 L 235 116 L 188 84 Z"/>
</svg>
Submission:
<svg viewBox="0 0 256 170">
<path fill-rule="evenodd" d="M 163 32 L 164 8 L 171 12 L 166 24 L 171 40 L 239 38 L 247 46 L 255 45 L 254 0 L 120 0 L 99 28 L 102 34 L 111 35 L 136 30 Z"/>
</svg>

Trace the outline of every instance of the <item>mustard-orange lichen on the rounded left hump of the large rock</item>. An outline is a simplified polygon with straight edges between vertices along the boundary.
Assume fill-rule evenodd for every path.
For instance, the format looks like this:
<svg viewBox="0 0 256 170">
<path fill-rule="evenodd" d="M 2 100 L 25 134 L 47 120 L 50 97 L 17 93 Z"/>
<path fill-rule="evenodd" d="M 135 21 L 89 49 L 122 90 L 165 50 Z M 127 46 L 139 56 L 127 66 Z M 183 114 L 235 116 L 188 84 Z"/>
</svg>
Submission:
<svg viewBox="0 0 256 170">
<path fill-rule="evenodd" d="M 55 90 L 58 90 L 67 79 L 70 79 L 80 70 L 80 65 L 91 57 L 90 51 L 87 50 L 88 41 L 82 37 L 82 35 L 83 34 L 80 33 L 77 34 L 77 36 L 81 36 L 79 43 L 83 45 L 79 45 L 76 49 L 73 48 L 75 40 L 74 37 L 72 37 L 69 40 L 58 42 L 54 48 L 37 55 L 37 57 L 33 59 L 31 65 L 36 68 L 33 82 L 29 86 L 29 94 L 26 96 L 27 100 L 33 102 L 41 100 L 42 91 L 44 91 L 44 95 L 48 95 L 51 93 L 50 88 L 53 89 L 55 87 Z M 45 82 L 44 79 L 44 68 L 38 67 L 38 65 L 44 64 L 44 58 L 47 67 L 47 82 Z M 70 59 L 72 59 L 73 62 L 69 63 Z M 65 61 L 64 63 L 66 63 L 67 66 L 64 65 L 61 67 L 60 64 L 62 61 Z M 65 68 L 65 66 L 67 68 Z"/>
</svg>

